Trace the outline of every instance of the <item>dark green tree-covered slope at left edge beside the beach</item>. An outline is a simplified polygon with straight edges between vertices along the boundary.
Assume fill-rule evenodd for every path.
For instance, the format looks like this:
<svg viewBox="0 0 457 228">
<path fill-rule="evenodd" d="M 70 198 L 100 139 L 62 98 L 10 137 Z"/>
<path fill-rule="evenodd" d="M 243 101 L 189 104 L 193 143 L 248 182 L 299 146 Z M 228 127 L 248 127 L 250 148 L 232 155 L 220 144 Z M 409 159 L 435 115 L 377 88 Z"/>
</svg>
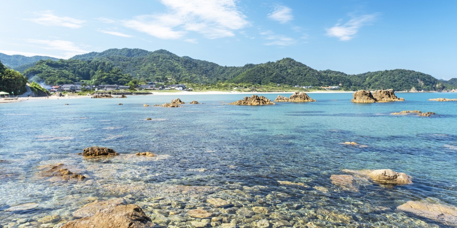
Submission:
<svg viewBox="0 0 457 228">
<path fill-rule="evenodd" d="M 0 91 L 16 95 L 26 92 L 27 78 L 21 73 L 8 69 L 0 61 Z"/>
</svg>

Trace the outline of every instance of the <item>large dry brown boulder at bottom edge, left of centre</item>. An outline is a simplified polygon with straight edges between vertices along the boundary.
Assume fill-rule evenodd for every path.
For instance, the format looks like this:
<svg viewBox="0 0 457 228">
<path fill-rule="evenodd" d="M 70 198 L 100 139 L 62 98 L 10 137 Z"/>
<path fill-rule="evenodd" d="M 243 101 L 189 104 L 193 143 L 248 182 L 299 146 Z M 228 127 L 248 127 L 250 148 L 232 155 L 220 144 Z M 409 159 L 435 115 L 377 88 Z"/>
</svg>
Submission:
<svg viewBox="0 0 457 228">
<path fill-rule="evenodd" d="M 141 207 L 130 204 L 103 209 L 93 216 L 70 221 L 62 228 L 150 228 L 153 225 Z"/>
</svg>

